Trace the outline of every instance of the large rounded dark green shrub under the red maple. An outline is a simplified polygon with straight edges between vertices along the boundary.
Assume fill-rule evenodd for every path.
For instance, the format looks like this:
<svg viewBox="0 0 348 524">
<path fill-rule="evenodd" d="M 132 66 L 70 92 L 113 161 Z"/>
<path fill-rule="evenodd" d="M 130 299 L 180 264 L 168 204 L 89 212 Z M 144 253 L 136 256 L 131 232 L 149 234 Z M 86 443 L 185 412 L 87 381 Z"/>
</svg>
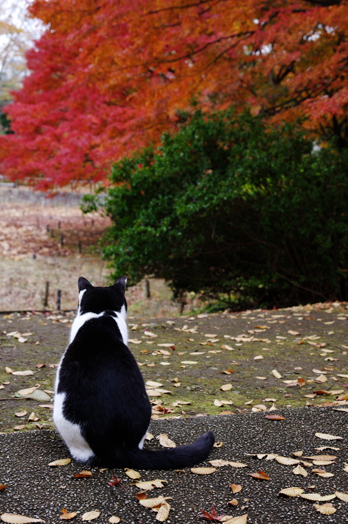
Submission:
<svg viewBox="0 0 348 524">
<path fill-rule="evenodd" d="M 113 166 L 103 255 L 115 277 L 165 278 L 176 297 L 346 300 L 347 168 L 346 150 L 313 152 L 300 127 L 197 111 Z"/>
</svg>

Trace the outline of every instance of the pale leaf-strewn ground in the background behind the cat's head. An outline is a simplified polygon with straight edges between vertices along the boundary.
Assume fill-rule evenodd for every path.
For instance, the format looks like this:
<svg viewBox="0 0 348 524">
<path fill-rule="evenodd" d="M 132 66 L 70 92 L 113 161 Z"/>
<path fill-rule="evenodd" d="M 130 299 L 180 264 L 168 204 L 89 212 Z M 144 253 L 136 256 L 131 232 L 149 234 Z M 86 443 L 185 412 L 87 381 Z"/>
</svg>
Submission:
<svg viewBox="0 0 348 524">
<path fill-rule="evenodd" d="M 43 307 L 49 282 L 48 309 L 73 309 L 77 279 L 94 286 L 110 284 L 110 269 L 101 260 L 98 242 L 110 226 L 108 217 L 82 215 L 78 206 L 38 203 L 0 203 L 0 311 L 37 310 Z M 79 242 L 81 253 L 79 253 Z M 162 280 L 150 280 L 151 297 L 140 282 L 128 291 L 129 311 L 147 316 L 178 314 L 171 291 Z"/>
</svg>

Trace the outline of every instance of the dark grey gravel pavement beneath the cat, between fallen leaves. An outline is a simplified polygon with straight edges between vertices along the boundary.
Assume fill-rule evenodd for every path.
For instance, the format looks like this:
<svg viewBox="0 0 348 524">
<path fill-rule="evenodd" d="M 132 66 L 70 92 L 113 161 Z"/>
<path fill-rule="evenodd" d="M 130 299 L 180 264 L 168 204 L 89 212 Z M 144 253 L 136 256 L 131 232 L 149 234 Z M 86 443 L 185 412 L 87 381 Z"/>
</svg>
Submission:
<svg viewBox="0 0 348 524">
<path fill-rule="evenodd" d="M 140 471 L 140 481 L 164 479 L 164 487 L 149 492 L 149 497 L 159 495 L 172 497 L 168 524 L 188 524 L 203 521 L 197 518 L 199 509 L 210 510 L 213 503 L 218 515 L 233 517 L 248 514 L 249 524 L 320 524 L 322 522 L 344 524 L 348 521 L 348 503 L 335 498 L 331 501 L 336 508 L 334 515 L 321 515 L 313 502 L 296 497 L 279 496 L 282 488 L 298 486 L 304 493 L 332 494 L 335 490 L 347 492 L 348 472 L 343 470 L 347 457 L 346 412 L 333 408 L 300 408 L 277 411 L 285 420 L 272 421 L 265 413 L 243 413 L 226 416 L 194 417 L 191 419 L 153 420 L 150 432 L 155 436 L 167 433 L 177 445 L 192 442 L 205 431 L 213 430 L 216 441 L 223 441 L 219 449 L 214 448 L 210 460 L 228 459 L 248 465 L 245 468 L 223 466 L 210 475 L 192 474 L 189 468 L 177 472 Z M 327 441 L 314 433 L 330 433 L 343 439 Z M 334 446 L 339 450 L 317 451 L 318 446 Z M 156 522 L 156 513 L 140 506 L 136 494 L 141 490 L 125 476 L 122 470 L 92 470 L 92 478 L 74 478 L 81 466 L 69 465 L 49 467 L 48 463 L 63 459 L 69 453 L 54 431 L 30 431 L 1 434 L 2 461 L 0 482 L 6 488 L 0 492 L 1 512 L 41 518 L 52 524 L 60 521 L 62 508 L 78 511 L 73 521 L 82 521 L 84 512 L 100 510 L 96 524 L 107 522 L 118 516 L 125 524 L 147 524 Z M 156 439 L 147 443 L 159 447 Z M 303 456 L 330 453 L 338 456 L 336 461 L 325 467 L 333 477 L 322 478 L 311 473 L 313 467 L 306 467 L 306 478 L 292 473 L 295 466 L 282 465 L 260 460 L 245 453 L 277 453 L 291 456 L 303 450 Z M 210 464 L 204 463 L 204 466 Z M 323 468 L 323 466 L 321 466 Z M 248 473 L 262 470 L 269 481 L 258 481 Z M 120 486 L 109 486 L 107 481 L 113 475 L 122 478 L 125 490 Z M 233 495 L 230 484 L 240 484 L 242 490 Z M 315 487 L 313 487 L 315 486 Z M 231 499 L 238 500 L 238 506 L 227 506 Z M 323 503 L 319 503 L 323 504 Z"/>
</svg>

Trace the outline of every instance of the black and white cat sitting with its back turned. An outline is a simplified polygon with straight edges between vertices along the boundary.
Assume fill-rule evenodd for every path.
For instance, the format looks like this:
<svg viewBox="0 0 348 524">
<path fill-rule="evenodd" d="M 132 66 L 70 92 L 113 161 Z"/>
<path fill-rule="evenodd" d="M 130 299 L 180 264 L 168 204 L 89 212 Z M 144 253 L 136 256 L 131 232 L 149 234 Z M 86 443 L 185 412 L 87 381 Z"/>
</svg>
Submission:
<svg viewBox="0 0 348 524">
<path fill-rule="evenodd" d="M 127 347 L 125 287 L 79 278 L 79 308 L 57 370 L 53 420 L 73 458 L 90 466 L 169 470 L 205 460 L 212 431 L 193 444 L 143 449 L 151 405 Z"/>
</svg>

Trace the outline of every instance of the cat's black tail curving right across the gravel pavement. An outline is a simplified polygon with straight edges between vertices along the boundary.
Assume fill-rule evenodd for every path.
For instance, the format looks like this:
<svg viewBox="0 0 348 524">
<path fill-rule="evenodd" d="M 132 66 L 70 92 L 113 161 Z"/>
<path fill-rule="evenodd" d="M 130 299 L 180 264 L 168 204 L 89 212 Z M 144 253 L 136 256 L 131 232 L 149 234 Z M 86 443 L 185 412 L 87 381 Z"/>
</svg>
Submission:
<svg viewBox="0 0 348 524">
<path fill-rule="evenodd" d="M 113 457 L 95 457 L 97 464 L 103 467 L 129 467 L 139 470 L 178 470 L 191 467 L 208 458 L 215 442 L 214 433 L 208 431 L 192 444 L 170 447 L 163 450 L 118 451 Z"/>
</svg>

